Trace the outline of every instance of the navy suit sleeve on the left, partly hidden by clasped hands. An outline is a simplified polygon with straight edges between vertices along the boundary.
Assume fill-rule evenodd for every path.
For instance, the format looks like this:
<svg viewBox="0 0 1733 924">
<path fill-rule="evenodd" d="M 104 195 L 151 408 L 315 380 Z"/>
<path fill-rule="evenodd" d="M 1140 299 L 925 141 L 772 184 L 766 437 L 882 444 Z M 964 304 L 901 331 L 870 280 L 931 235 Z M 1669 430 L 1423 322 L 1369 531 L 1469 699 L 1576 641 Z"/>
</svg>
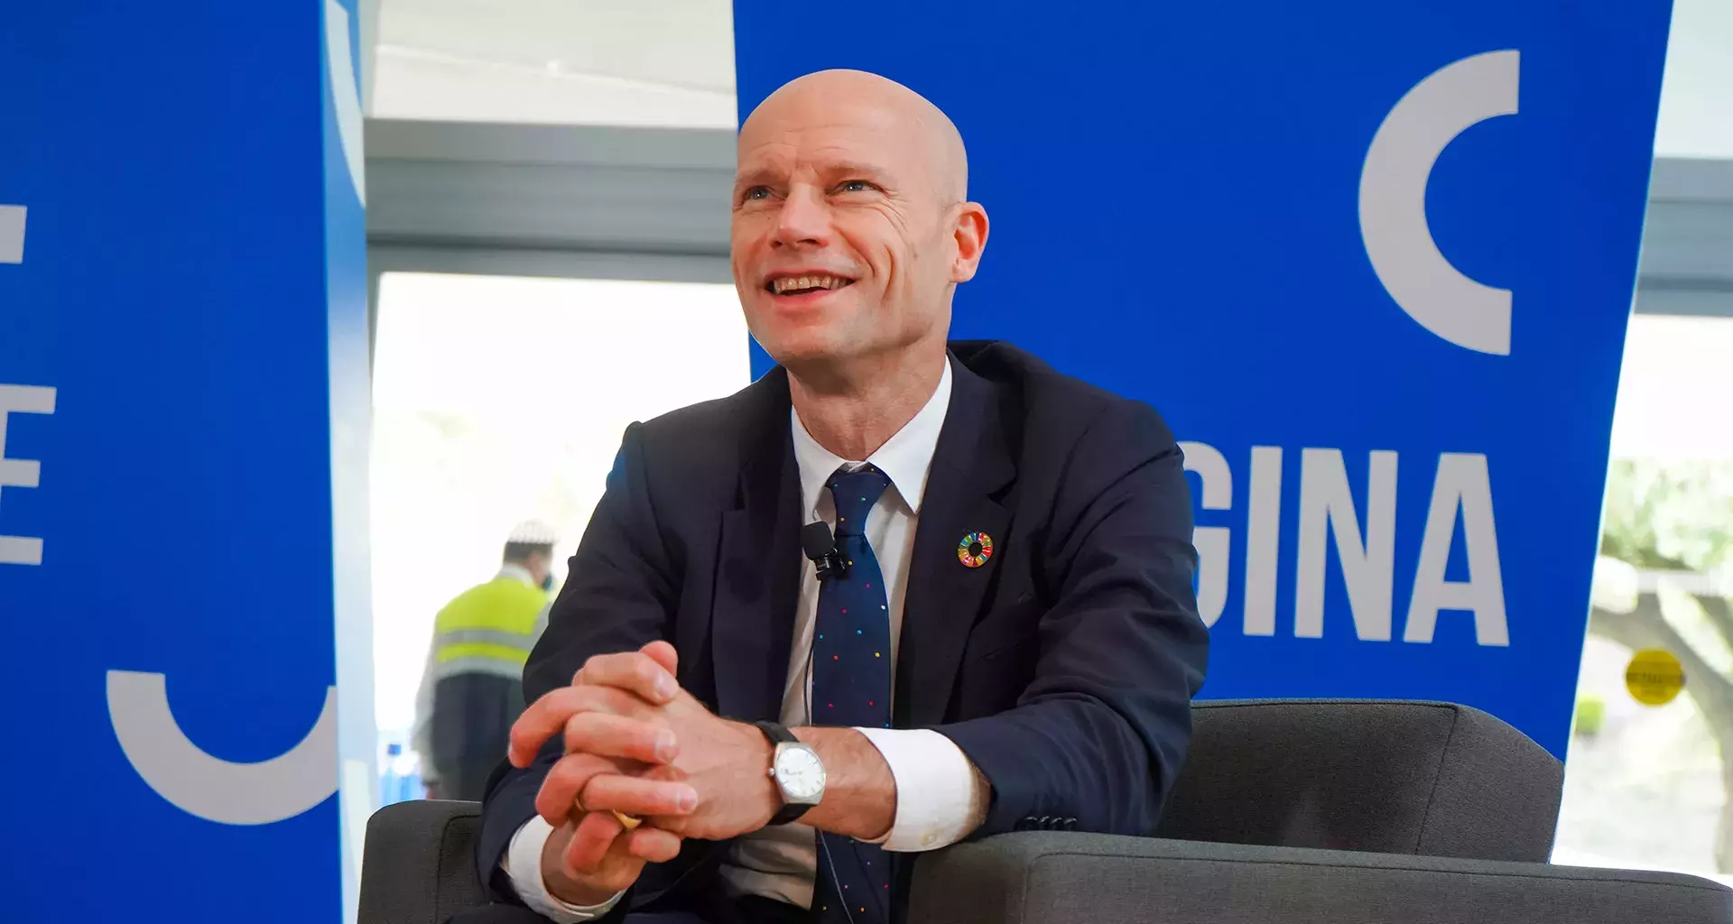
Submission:
<svg viewBox="0 0 1733 924">
<path fill-rule="evenodd" d="M 548 614 L 548 629 L 523 666 L 525 702 L 568 685 L 593 655 L 631 652 L 667 638 L 676 600 L 672 574 L 674 562 L 650 504 L 643 428 L 634 423 L 626 428 L 608 487 Z M 518 898 L 501 870 L 501 858 L 511 837 L 535 815 L 535 794 L 563 752 L 560 739 L 553 739 L 529 768 L 501 761 L 489 778 L 475 860 L 496 898 Z"/>
</svg>

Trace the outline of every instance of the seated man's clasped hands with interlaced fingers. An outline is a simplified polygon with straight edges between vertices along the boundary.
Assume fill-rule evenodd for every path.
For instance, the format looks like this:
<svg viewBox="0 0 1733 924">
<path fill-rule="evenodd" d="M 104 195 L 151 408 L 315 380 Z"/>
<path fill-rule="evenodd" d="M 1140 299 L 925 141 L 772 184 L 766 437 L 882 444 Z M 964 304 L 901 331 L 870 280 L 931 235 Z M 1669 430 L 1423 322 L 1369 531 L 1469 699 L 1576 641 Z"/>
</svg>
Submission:
<svg viewBox="0 0 1733 924">
<path fill-rule="evenodd" d="M 572 685 L 525 709 L 510 759 L 529 766 L 555 735 L 565 756 L 548 771 L 535 813 L 555 834 L 542 849 L 548 889 L 600 905 L 672 860 L 685 837 L 728 839 L 764 827 L 780 797 L 771 745 L 752 725 L 717 718 L 679 688 L 667 641 L 591 657 Z M 615 815 L 641 818 L 627 829 Z"/>
</svg>

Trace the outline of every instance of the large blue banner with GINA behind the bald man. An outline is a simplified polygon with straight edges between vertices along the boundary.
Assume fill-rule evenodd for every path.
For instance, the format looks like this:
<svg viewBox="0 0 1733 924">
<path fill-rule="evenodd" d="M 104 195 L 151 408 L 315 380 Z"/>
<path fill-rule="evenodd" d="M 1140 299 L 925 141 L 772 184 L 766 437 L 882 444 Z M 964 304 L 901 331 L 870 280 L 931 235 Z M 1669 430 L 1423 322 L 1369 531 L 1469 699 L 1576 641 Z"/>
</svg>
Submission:
<svg viewBox="0 0 1733 924">
<path fill-rule="evenodd" d="M 1154 404 L 1206 697 L 1477 706 L 1563 758 L 1669 3 L 931 3 L 769 42 L 944 109 L 991 241 L 953 333 Z M 756 359 L 757 369 L 764 357 Z"/>
</svg>

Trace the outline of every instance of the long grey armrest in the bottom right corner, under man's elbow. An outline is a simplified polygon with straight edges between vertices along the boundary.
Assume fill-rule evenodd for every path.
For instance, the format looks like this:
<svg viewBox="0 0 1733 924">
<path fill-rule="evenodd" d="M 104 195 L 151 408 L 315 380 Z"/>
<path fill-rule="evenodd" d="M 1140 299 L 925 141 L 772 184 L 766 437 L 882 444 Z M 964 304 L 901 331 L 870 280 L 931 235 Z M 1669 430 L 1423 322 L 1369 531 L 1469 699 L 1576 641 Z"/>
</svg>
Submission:
<svg viewBox="0 0 1733 924">
<path fill-rule="evenodd" d="M 910 924 L 1726 924 L 1733 889 L 1678 874 L 1003 834 L 924 856 Z"/>
</svg>

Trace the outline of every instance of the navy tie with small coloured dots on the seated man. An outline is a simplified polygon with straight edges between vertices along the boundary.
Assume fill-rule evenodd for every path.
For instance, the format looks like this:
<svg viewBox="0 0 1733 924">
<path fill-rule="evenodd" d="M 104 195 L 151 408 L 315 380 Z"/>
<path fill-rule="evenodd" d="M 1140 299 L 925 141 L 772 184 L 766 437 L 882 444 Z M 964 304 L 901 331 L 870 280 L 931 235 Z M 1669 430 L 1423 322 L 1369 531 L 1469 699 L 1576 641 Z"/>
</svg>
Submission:
<svg viewBox="0 0 1733 924">
<path fill-rule="evenodd" d="M 866 515 L 891 478 L 873 466 L 830 477 L 837 504 L 842 577 L 818 588 L 813 633 L 813 725 L 891 726 L 891 607 L 879 558 L 866 543 Z M 818 834 L 815 917 L 821 924 L 884 924 L 891 919 L 891 863 L 884 849 L 839 834 Z"/>
</svg>

